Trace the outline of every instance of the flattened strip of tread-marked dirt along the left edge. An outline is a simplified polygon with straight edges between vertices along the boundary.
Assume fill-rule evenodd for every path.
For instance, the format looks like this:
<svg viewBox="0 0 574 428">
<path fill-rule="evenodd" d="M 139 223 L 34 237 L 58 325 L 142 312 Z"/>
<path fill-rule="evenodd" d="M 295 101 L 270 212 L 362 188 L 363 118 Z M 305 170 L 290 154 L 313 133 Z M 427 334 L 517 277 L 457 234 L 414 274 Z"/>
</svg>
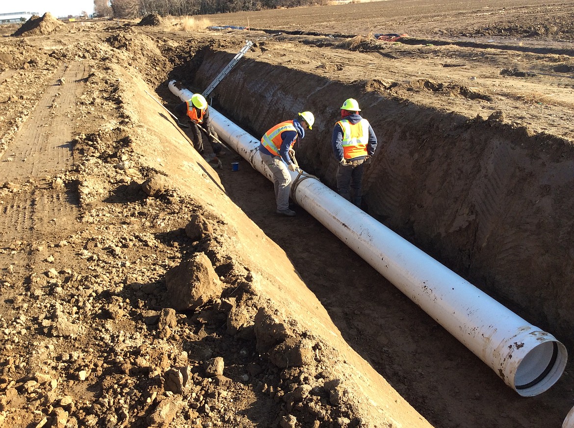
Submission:
<svg viewBox="0 0 574 428">
<path fill-rule="evenodd" d="M 34 231 L 42 229 L 64 232 L 75 223 L 77 196 L 53 179 L 72 164 L 73 123 L 69 118 L 86 74 L 83 63 L 61 65 L 55 75 L 64 84 L 54 82 L 47 87 L 2 157 L 2 175 L 16 189 L 0 223 L 6 243 L 38 239 Z"/>
</svg>

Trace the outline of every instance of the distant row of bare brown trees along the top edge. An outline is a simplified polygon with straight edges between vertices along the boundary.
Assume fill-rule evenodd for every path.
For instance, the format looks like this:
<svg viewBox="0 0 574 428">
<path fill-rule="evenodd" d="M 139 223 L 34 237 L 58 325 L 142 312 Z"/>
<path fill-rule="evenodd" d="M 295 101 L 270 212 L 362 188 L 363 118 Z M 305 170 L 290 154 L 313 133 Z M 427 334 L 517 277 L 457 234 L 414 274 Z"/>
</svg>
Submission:
<svg viewBox="0 0 574 428">
<path fill-rule="evenodd" d="M 133 19 L 324 5 L 329 0 L 94 0 L 96 16 Z"/>
</svg>

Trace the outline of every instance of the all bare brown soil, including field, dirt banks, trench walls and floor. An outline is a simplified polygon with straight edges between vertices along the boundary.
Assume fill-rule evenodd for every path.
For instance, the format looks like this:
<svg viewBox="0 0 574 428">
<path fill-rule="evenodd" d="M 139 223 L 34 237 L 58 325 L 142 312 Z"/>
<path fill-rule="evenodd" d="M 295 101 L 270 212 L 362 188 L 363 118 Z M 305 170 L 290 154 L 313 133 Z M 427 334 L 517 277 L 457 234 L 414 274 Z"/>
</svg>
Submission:
<svg viewBox="0 0 574 428">
<path fill-rule="evenodd" d="M 212 104 L 257 138 L 313 111 L 297 158 L 331 187 L 332 126 L 358 99 L 380 142 L 363 208 L 571 349 L 574 6 L 208 18 L 251 30 L 86 21 L 0 41 L 0 427 L 561 426 L 572 364 L 522 398 L 152 96 L 173 109 L 170 79 L 201 91 L 254 41 Z"/>
</svg>

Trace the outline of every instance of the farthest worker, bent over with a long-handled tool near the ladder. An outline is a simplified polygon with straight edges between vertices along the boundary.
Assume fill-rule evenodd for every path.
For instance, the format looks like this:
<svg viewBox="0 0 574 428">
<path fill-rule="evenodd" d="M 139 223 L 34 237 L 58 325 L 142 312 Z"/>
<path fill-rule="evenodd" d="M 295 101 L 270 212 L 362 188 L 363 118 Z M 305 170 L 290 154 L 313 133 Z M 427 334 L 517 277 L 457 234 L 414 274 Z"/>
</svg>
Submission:
<svg viewBox="0 0 574 428">
<path fill-rule="evenodd" d="M 207 100 L 201 94 L 193 94 L 190 100 L 184 101 L 175 108 L 175 112 L 181 118 L 187 116 L 191 122 L 191 132 L 193 134 L 193 142 L 195 143 L 195 149 L 203 154 L 204 140 L 201 134 L 202 127 L 203 130 L 208 134 L 208 138 L 211 142 L 211 147 L 216 155 L 222 150 L 222 147 L 216 142 L 215 138 L 217 134 L 211 127 L 210 123 L 210 112 L 208 110 Z"/>
</svg>

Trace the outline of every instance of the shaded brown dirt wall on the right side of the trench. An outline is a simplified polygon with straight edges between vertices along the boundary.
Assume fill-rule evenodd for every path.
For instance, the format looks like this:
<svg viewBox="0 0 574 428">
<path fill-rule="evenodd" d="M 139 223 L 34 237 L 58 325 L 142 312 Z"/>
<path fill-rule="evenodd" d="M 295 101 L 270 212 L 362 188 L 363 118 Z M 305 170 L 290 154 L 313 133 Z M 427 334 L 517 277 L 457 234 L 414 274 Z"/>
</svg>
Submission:
<svg viewBox="0 0 574 428">
<path fill-rule="evenodd" d="M 233 55 L 205 50 L 193 85 L 207 87 Z M 435 111 L 322 76 L 242 59 L 213 105 L 252 135 L 310 110 L 297 149 L 335 188 L 331 134 L 347 98 L 379 139 L 363 180 L 364 209 L 567 346 L 574 340 L 574 149 L 498 120 Z"/>
</svg>

